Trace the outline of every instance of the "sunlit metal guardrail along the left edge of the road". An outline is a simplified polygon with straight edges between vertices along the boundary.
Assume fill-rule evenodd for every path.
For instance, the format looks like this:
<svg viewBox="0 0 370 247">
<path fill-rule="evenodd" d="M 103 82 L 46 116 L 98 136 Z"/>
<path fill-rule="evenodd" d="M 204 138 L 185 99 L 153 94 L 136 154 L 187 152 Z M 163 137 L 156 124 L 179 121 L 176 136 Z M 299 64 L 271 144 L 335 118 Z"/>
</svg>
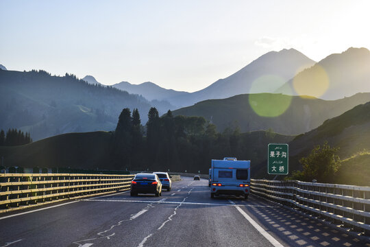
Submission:
<svg viewBox="0 0 370 247">
<path fill-rule="evenodd" d="M 0 174 L 0 213 L 130 189 L 134 175 Z"/>
</svg>

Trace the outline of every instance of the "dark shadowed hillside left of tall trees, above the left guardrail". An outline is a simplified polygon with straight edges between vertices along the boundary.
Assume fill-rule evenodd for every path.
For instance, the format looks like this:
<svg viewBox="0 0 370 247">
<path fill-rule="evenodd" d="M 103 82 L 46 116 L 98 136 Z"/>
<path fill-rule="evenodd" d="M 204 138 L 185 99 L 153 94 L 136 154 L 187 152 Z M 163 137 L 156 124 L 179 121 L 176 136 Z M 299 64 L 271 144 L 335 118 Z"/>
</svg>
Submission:
<svg viewBox="0 0 370 247">
<path fill-rule="evenodd" d="M 110 132 L 60 134 L 27 145 L 0 147 L 4 165 L 21 167 L 110 167 Z"/>
</svg>

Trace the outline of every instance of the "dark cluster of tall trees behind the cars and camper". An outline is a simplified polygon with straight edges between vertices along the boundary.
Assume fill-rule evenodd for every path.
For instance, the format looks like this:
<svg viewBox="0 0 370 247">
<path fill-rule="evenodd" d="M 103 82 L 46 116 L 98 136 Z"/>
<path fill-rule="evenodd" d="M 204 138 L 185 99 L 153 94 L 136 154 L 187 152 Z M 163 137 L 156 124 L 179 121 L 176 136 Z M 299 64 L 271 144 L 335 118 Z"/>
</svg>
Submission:
<svg viewBox="0 0 370 247">
<path fill-rule="evenodd" d="M 264 132 L 254 134 L 256 140 L 257 135 L 261 140 L 270 139 Z M 145 126 L 141 125 L 137 109 L 131 113 L 124 108 L 112 134 L 110 150 L 114 169 L 195 173 L 208 173 L 212 158 L 236 156 L 250 160 L 261 156 L 256 152 L 262 152 L 256 143 L 240 134 L 238 127 L 217 132 L 216 126 L 204 117 L 174 117 L 171 110 L 160 117 L 156 108 L 150 108 Z"/>
</svg>

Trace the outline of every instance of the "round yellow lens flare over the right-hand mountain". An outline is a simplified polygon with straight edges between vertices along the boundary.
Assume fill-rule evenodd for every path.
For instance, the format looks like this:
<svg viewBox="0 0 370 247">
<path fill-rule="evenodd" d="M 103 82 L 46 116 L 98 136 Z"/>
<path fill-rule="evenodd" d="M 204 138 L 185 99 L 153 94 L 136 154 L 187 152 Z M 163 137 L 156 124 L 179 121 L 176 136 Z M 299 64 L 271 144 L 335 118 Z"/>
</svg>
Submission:
<svg viewBox="0 0 370 247">
<path fill-rule="evenodd" d="M 301 97 L 320 97 L 328 90 L 329 84 L 328 74 L 319 64 L 293 78 L 293 88 Z"/>
</svg>

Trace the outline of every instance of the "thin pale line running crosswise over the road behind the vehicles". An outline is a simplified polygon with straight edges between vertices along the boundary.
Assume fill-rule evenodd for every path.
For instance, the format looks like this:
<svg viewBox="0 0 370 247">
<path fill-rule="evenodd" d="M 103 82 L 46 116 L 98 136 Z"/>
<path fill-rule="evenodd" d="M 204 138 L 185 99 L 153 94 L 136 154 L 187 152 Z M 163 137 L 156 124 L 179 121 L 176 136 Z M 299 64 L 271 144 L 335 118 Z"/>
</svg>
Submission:
<svg viewBox="0 0 370 247">
<path fill-rule="evenodd" d="M 171 201 L 157 201 L 157 200 L 103 200 L 103 199 L 84 199 L 90 202 L 138 202 L 138 203 L 169 203 L 169 204 L 188 204 L 188 205 L 209 205 L 209 206 L 229 206 L 229 207 L 262 207 L 262 208 L 278 208 L 277 206 L 264 206 L 264 205 L 249 205 L 249 204 L 225 204 L 225 203 L 209 203 L 209 202 L 171 202 Z"/>
</svg>

